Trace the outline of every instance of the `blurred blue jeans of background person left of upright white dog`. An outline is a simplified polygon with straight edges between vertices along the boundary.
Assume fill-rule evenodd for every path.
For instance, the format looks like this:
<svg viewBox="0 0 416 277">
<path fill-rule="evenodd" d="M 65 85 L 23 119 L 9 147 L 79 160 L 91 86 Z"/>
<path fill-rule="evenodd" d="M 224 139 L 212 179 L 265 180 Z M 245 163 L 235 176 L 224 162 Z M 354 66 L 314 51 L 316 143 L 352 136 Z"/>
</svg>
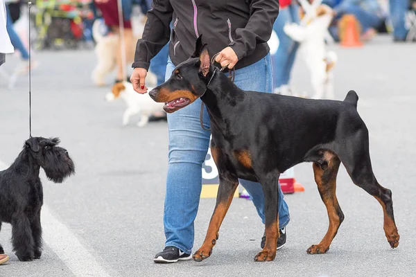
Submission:
<svg viewBox="0 0 416 277">
<path fill-rule="evenodd" d="M 273 84 L 275 88 L 281 85 L 288 84 L 291 80 L 291 71 L 295 63 L 295 56 L 299 43 L 294 42 L 291 37 L 286 35 L 283 26 L 286 23 L 299 23 L 299 6 L 297 3 L 292 3 L 290 6 L 281 8 L 279 16 L 273 30 L 275 30 L 277 37 L 279 37 L 279 48 L 275 55 L 273 55 Z"/>
</svg>

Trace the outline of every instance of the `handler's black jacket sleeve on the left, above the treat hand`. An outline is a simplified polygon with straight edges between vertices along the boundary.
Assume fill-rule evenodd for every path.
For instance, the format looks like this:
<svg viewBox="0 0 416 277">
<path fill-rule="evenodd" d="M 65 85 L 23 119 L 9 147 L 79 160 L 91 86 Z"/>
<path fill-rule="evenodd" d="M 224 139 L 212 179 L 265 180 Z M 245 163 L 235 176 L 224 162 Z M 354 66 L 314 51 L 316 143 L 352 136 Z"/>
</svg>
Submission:
<svg viewBox="0 0 416 277">
<path fill-rule="evenodd" d="M 147 12 L 143 35 L 137 41 L 132 67 L 149 69 L 150 60 L 169 42 L 172 14 L 173 8 L 169 0 L 153 1 L 153 8 Z"/>
</svg>

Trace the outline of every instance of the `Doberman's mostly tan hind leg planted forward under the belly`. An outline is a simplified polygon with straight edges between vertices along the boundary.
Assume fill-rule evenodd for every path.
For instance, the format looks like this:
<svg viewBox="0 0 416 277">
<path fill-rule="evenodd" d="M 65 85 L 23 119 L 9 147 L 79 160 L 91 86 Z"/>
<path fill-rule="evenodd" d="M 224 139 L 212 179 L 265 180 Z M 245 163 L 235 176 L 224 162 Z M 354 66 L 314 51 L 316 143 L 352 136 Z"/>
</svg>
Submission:
<svg viewBox="0 0 416 277">
<path fill-rule="evenodd" d="M 327 253 L 329 245 L 335 237 L 341 223 L 344 220 L 338 199 L 336 198 L 336 176 L 340 167 L 340 159 L 327 151 L 322 155 L 322 160 L 313 163 L 315 182 L 318 185 L 320 197 L 327 207 L 329 226 L 328 231 L 319 244 L 314 244 L 306 251 L 309 254 Z"/>
</svg>

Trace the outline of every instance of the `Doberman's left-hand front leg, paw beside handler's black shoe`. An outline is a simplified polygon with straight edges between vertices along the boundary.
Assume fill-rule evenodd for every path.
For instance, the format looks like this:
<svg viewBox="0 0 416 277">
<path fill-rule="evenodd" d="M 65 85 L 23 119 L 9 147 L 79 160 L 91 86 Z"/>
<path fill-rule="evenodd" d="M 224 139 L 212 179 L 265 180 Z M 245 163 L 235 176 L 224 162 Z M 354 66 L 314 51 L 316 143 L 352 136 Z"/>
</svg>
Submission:
<svg viewBox="0 0 416 277">
<path fill-rule="evenodd" d="M 211 256 L 212 248 L 218 240 L 218 231 L 220 230 L 221 223 L 224 220 L 225 214 L 228 211 L 229 205 L 232 202 L 232 197 L 236 188 L 239 186 L 239 180 L 236 177 L 224 177 L 220 175 L 220 185 L 218 186 L 218 195 L 216 199 L 216 206 L 214 213 L 212 214 L 211 221 L 205 241 L 202 247 L 198 249 L 192 256 L 193 260 L 200 262 L 209 256 Z"/>
</svg>

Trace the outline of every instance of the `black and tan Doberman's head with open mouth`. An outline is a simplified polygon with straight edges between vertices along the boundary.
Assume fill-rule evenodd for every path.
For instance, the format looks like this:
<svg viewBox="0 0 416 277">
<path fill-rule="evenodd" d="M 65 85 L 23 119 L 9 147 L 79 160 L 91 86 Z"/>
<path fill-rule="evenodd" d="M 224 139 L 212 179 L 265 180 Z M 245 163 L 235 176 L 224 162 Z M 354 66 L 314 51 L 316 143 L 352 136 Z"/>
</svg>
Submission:
<svg viewBox="0 0 416 277">
<path fill-rule="evenodd" d="M 182 109 L 202 96 L 212 74 L 207 45 L 202 35 L 196 41 L 195 52 L 173 70 L 171 78 L 155 87 L 149 95 L 156 102 L 165 102 L 167 113 Z"/>
</svg>

